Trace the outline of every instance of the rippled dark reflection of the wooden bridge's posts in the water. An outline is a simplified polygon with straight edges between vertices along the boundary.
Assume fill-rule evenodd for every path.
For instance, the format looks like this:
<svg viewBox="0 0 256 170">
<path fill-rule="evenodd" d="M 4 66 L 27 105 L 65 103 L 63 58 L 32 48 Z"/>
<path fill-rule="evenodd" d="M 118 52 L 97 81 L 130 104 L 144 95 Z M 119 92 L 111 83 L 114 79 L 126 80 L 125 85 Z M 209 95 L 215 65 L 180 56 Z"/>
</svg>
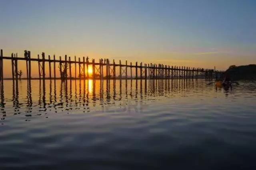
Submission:
<svg viewBox="0 0 256 170">
<path fill-rule="evenodd" d="M 37 84 L 38 81 L 39 85 L 33 86 L 33 83 Z M 7 115 L 24 114 L 26 119 L 29 119 L 31 116 L 40 116 L 51 111 L 90 111 L 94 110 L 91 108 L 95 106 L 102 108 L 110 105 L 110 100 L 122 101 L 126 105 L 129 102 L 127 99 L 138 101 L 147 97 L 164 97 L 169 93 L 173 95 L 175 91 L 188 92 L 202 82 L 204 79 L 28 80 L 27 89 L 22 90 L 20 81 L 5 81 L 5 90 L 12 93 L 1 93 L 0 117 L 2 115 L 1 120 L 5 120 Z M 10 109 L 10 102 L 13 110 Z"/>
</svg>

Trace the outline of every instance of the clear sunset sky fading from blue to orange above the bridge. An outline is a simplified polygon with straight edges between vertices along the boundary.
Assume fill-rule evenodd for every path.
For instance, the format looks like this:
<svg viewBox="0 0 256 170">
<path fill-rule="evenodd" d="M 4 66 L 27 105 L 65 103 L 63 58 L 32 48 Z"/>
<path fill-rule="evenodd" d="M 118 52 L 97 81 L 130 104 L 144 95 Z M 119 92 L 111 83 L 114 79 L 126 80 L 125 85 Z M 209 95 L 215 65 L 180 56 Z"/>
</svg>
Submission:
<svg viewBox="0 0 256 170">
<path fill-rule="evenodd" d="M 220 70 L 256 63 L 256 0 L 0 0 L 0 6 L 4 56 L 27 49 L 32 57 L 44 51 Z"/>
</svg>

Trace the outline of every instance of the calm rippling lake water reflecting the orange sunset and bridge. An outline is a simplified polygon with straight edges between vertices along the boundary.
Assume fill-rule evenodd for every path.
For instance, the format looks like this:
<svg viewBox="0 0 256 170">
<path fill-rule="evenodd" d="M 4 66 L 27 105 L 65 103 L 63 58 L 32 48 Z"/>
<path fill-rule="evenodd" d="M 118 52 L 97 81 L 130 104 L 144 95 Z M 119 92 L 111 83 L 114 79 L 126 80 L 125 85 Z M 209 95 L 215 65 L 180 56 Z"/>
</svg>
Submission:
<svg viewBox="0 0 256 170">
<path fill-rule="evenodd" d="M 256 169 L 256 83 L 4 81 L 0 170 Z"/>
</svg>

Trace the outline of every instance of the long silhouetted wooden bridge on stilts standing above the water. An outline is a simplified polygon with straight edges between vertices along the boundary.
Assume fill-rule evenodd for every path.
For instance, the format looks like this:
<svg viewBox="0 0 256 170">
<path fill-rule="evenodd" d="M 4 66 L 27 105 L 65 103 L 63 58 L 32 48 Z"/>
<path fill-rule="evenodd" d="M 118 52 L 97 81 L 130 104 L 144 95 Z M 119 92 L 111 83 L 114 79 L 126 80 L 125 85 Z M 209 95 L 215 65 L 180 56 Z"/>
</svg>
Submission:
<svg viewBox="0 0 256 170">
<path fill-rule="evenodd" d="M 139 64 L 136 62 L 135 65 L 130 63 L 130 65 L 128 65 L 127 61 L 125 61 L 125 64 L 122 64 L 121 60 L 119 60 L 119 63 L 116 63 L 114 60 L 110 63 L 109 59 L 99 59 L 99 62 L 97 63 L 94 59 L 89 61 L 88 57 L 82 57 L 82 60 L 79 57 L 77 61 L 76 56 L 74 57 L 74 61 L 71 61 L 70 57 L 67 57 L 67 55 L 65 55 L 64 60 L 62 60 L 62 57 L 56 59 L 55 55 L 53 56 L 53 59 L 51 59 L 50 55 L 48 55 L 48 59 L 46 59 L 45 53 L 42 53 L 41 58 L 39 55 L 37 58 L 31 58 L 30 51 L 25 51 L 24 57 L 18 57 L 17 53 L 12 53 L 10 57 L 4 57 L 1 49 L 0 79 L 4 78 L 3 59 L 11 60 L 12 79 L 18 79 L 18 61 L 22 60 L 26 61 L 26 79 L 32 79 L 31 61 L 38 63 L 39 79 L 211 79 L 220 73 L 214 69 L 180 67 L 153 63 L 142 64 L 142 62 Z M 57 68 L 56 63 L 58 64 Z M 46 66 L 46 64 L 48 66 Z M 72 66 L 74 66 L 74 69 L 71 69 Z M 89 66 L 92 67 L 92 73 L 89 71 Z M 49 70 L 48 77 L 46 77 L 46 69 Z M 56 76 L 56 70 L 59 71 L 60 77 Z M 74 73 L 72 73 L 72 71 Z"/>
</svg>

